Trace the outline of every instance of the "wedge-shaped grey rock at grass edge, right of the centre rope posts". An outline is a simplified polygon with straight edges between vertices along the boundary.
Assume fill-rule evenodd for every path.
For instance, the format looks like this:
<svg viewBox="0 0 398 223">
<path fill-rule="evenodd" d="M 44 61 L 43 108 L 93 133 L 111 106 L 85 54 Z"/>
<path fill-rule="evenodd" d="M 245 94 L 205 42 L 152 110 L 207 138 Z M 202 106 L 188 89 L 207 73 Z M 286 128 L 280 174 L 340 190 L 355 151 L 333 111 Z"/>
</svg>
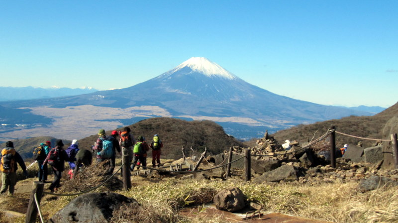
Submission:
<svg viewBox="0 0 398 223">
<path fill-rule="evenodd" d="M 262 182 L 280 182 L 284 181 L 296 181 L 298 180 L 297 170 L 294 166 L 284 165 L 273 171 L 265 172 L 259 178 L 255 179 L 255 183 Z"/>
</svg>

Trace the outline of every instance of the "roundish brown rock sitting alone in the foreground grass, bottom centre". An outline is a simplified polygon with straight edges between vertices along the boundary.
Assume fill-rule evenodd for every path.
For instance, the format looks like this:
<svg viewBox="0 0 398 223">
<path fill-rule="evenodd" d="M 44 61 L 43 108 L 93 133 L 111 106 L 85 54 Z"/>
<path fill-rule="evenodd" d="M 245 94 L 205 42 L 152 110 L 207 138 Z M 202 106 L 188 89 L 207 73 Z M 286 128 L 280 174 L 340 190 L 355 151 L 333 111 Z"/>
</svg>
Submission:
<svg viewBox="0 0 398 223">
<path fill-rule="evenodd" d="M 228 188 L 219 191 L 213 198 L 215 207 L 218 210 L 236 212 L 246 207 L 247 198 L 237 188 Z"/>
</svg>

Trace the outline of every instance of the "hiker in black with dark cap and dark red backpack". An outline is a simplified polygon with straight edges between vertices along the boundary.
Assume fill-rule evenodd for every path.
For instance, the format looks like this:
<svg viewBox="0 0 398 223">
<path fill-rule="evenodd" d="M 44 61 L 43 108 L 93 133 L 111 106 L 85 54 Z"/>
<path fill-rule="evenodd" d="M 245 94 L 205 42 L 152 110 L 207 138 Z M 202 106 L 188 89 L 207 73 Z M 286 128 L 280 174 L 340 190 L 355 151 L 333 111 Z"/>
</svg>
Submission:
<svg viewBox="0 0 398 223">
<path fill-rule="evenodd" d="M 51 166 L 54 172 L 54 180 L 51 182 L 48 188 L 51 192 L 56 191 L 61 185 L 61 175 L 65 170 L 65 161 L 70 161 L 68 154 L 64 150 L 64 143 L 61 139 L 57 139 L 55 147 L 50 150 L 43 165 L 47 164 Z"/>
</svg>

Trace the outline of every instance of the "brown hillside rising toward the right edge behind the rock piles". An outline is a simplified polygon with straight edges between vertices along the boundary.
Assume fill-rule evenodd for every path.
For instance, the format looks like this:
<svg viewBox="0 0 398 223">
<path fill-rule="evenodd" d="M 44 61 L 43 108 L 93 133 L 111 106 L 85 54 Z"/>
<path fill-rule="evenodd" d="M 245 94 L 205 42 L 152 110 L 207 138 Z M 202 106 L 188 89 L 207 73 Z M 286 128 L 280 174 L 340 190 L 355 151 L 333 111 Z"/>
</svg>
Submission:
<svg viewBox="0 0 398 223">
<path fill-rule="evenodd" d="M 301 144 L 324 134 L 326 130 L 335 126 L 337 131 L 344 132 L 351 135 L 368 137 L 368 138 L 382 138 L 382 130 L 386 122 L 393 116 L 398 114 L 398 103 L 394 106 L 384 110 L 373 116 L 348 116 L 340 119 L 332 119 L 327 121 L 319 121 L 313 124 L 297 125 L 285 130 L 281 130 L 273 134 L 275 139 L 280 142 L 289 140 L 298 140 Z M 336 146 L 340 147 L 343 144 L 357 144 L 360 139 L 347 137 L 344 135 L 336 136 Z M 374 141 L 364 140 L 363 146 L 372 146 Z"/>
</svg>

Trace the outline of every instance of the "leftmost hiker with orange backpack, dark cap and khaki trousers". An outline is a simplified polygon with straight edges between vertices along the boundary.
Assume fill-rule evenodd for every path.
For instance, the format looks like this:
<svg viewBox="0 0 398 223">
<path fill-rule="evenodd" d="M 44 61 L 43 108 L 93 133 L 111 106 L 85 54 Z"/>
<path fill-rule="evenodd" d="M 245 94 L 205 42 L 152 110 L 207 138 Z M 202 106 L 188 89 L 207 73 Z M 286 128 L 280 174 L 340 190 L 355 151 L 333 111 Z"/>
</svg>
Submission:
<svg viewBox="0 0 398 223">
<path fill-rule="evenodd" d="M 4 194 L 8 187 L 8 195 L 13 196 L 16 184 L 16 170 L 17 163 L 22 168 L 23 175 L 27 177 L 26 166 L 22 157 L 14 149 L 14 144 L 11 141 L 5 143 L 5 148 L 1 150 L 0 154 L 0 170 L 1 170 L 1 194 Z"/>
</svg>

